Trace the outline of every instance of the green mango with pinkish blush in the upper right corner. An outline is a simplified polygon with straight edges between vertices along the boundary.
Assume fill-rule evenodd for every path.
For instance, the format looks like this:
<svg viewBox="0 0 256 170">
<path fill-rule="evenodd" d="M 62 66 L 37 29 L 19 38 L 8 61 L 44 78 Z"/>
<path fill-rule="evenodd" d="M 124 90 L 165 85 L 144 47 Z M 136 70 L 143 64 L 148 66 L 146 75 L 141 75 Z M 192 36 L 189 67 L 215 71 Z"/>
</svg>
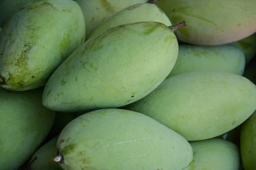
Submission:
<svg viewBox="0 0 256 170">
<path fill-rule="evenodd" d="M 159 0 L 172 23 L 186 21 L 177 39 L 195 45 L 223 45 L 256 32 L 255 0 Z"/>
</svg>

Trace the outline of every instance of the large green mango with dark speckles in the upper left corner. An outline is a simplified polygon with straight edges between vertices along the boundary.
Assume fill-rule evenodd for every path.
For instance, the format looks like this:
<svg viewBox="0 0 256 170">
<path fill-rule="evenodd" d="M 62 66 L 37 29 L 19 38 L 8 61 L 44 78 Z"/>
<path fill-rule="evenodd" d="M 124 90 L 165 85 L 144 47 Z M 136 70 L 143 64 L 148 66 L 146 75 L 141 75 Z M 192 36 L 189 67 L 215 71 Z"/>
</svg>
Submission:
<svg viewBox="0 0 256 170">
<path fill-rule="evenodd" d="M 44 86 L 84 42 L 84 17 L 73 0 L 34 0 L 0 33 L 0 85 L 12 91 Z M 15 49 L 15 50 L 14 50 Z"/>
</svg>

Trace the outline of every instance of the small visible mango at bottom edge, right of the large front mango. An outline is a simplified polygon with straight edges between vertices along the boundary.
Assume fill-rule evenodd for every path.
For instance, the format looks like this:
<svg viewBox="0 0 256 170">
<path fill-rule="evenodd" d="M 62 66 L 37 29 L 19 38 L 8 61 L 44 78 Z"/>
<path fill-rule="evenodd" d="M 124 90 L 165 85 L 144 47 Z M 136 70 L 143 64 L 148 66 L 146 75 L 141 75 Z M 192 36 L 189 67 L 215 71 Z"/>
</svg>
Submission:
<svg viewBox="0 0 256 170">
<path fill-rule="evenodd" d="M 193 161 L 189 170 L 239 170 L 239 148 L 224 139 L 189 142 Z"/>
</svg>

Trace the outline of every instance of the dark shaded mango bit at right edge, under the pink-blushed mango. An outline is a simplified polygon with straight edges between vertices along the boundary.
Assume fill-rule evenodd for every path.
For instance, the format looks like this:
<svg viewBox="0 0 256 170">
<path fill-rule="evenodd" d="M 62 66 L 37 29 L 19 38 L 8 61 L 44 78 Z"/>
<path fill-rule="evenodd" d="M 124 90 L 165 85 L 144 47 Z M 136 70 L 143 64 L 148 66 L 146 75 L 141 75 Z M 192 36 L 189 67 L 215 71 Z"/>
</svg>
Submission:
<svg viewBox="0 0 256 170">
<path fill-rule="evenodd" d="M 256 33 L 232 44 L 244 52 L 246 63 L 248 63 L 256 54 Z"/>
</svg>

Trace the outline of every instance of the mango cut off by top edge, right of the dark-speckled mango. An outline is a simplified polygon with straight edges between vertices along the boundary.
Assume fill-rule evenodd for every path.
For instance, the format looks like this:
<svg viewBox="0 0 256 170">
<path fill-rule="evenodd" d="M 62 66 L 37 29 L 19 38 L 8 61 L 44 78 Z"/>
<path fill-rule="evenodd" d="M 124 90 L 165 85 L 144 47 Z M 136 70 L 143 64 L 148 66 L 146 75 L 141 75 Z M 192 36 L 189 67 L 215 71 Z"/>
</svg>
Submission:
<svg viewBox="0 0 256 170">
<path fill-rule="evenodd" d="M 75 0 L 81 7 L 86 25 L 86 40 L 102 23 L 122 9 L 147 0 Z"/>
</svg>

